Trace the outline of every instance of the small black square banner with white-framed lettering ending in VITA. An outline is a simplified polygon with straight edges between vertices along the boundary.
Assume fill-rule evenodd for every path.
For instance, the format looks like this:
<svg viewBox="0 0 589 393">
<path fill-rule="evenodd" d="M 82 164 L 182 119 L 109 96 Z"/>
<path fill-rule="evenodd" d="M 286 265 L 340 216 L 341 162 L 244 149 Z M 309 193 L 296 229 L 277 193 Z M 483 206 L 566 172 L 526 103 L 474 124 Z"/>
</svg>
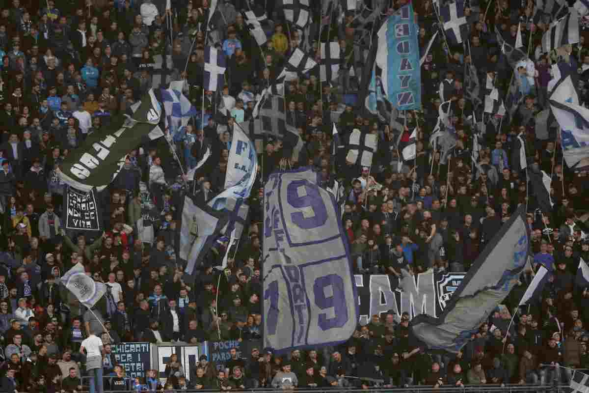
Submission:
<svg viewBox="0 0 589 393">
<path fill-rule="evenodd" d="M 65 193 L 65 228 L 100 231 L 100 209 L 94 194 L 68 187 Z"/>
</svg>

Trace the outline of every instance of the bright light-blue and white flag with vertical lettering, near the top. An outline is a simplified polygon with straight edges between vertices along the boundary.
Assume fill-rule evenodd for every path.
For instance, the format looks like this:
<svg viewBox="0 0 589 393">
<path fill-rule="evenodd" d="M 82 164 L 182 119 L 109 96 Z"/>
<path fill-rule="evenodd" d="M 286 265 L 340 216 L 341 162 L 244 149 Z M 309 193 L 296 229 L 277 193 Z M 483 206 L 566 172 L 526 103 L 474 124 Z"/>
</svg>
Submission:
<svg viewBox="0 0 589 393">
<path fill-rule="evenodd" d="M 418 31 L 410 3 L 389 16 L 377 34 L 380 81 L 386 97 L 398 110 L 421 109 Z"/>
</svg>

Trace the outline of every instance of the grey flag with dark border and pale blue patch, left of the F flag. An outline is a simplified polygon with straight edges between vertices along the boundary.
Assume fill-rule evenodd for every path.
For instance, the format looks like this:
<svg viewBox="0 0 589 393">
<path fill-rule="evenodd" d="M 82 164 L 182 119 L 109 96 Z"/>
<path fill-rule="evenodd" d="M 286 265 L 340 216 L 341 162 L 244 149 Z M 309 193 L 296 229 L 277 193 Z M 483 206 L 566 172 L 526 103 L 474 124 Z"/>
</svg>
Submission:
<svg viewBox="0 0 589 393">
<path fill-rule="evenodd" d="M 184 279 L 193 282 L 200 267 L 205 266 L 206 256 L 229 220 L 229 213 L 201 204 L 191 194 L 184 196 L 178 231 L 176 255 L 186 263 Z"/>
</svg>

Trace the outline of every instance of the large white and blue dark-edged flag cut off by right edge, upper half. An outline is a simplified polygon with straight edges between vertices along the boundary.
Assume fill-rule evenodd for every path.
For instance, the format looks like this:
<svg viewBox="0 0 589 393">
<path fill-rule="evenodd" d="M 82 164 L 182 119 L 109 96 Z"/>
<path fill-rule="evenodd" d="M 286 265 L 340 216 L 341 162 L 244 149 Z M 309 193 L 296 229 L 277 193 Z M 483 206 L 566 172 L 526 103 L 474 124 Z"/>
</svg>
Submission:
<svg viewBox="0 0 589 393">
<path fill-rule="evenodd" d="M 557 82 L 549 103 L 561 129 L 562 154 L 567 166 L 575 170 L 589 166 L 589 110 L 579 105 L 571 75 Z"/>
</svg>

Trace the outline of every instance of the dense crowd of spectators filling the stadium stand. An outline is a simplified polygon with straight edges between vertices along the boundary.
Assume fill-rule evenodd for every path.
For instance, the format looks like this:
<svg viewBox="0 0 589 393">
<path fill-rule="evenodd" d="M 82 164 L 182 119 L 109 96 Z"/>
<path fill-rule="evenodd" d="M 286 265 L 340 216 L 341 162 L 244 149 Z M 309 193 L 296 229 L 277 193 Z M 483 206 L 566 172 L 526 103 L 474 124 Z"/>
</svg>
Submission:
<svg viewBox="0 0 589 393">
<path fill-rule="evenodd" d="M 358 8 L 377 3 L 359 0 Z M 386 12 L 390 15 L 406 3 L 388 2 Z M 287 83 L 286 117 L 298 128 L 303 150 L 293 158 L 281 141 L 267 141 L 259 152 L 261 170 L 250 196 L 246 229 L 239 247 L 230 252 L 227 269 L 220 273 L 223 280 L 213 266 L 220 265 L 226 241 L 210 250 L 196 282 L 187 282 L 174 252 L 180 196 L 194 187 L 198 198 L 207 202 L 224 189 L 233 122 L 252 117 L 260 91 L 272 84 L 293 49 L 303 45 L 303 31 L 286 22 L 279 2 L 273 1 L 219 0 L 211 29 L 207 29 L 210 0 L 173 0 L 170 9 L 163 0 L 2 2 L 1 391 L 80 392 L 88 388 L 82 375 L 94 377 L 92 393 L 105 388 L 552 384 L 568 383 L 572 369 L 589 368 L 585 329 L 589 292 L 575 286 L 580 259 L 589 260 L 587 174 L 564 166 L 560 135 L 551 130 L 539 138 L 534 121 L 547 105 L 550 64 L 568 64 L 578 71 L 575 81 L 583 87 L 589 77 L 587 40 L 582 32 L 578 44 L 541 55 L 536 48 L 547 24 L 532 22 L 531 0 L 467 3 L 468 53 L 462 45 L 447 47 L 438 38 L 422 64 L 423 110 L 383 122 L 366 116 L 358 102 L 355 75 L 360 74 L 361 61 L 354 41 L 363 26 L 354 18 L 356 13 L 342 12 L 339 17 L 333 12 L 319 31 L 325 20 L 322 2 L 310 1 L 314 34 L 305 38 L 310 52 L 319 60 L 317 40 L 310 37 L 339 41 L 340 75 L 333 85 L 322 84 L 317 67 Z M 438 28 L 438 17 L 431 0 L 413 6 L 424 54 Z M 248 9 L 265 10 L 269 18 L 264 24 L 268 41 L 261 48 L 244 24 L 241 11 Z M 527 75 L 525 68 L 518 69 L 515 78 L 525 100 L 513 118 L 501 121 L 482 114 L 481 105 L 474 105 L 466 94 L 465 62 L 474 67 L 481 86 L 487 75 L 497 75 L 496 84 L 504 93 L 512 69 L 501 54 L 495 31 L 514 45 L 520 22 L 522 41 L 530 43 L 536 71 Z M 219 95 L 202 90 L 204 42 L 211 31 L 227 58 Z M 171 64 L 162 69 L 166 54 L 171 55 Z M 174 135 L 166 130 L 164 138 L 131 150 L 120 174 L 99 194 L 104 233 L 66 232 L 62 223 L 66 185 L 56 173 L 59 164 L 83 146 L 88 135 L 108 128 L 143 93 L 157 88 L 154 81 L 166 74 L 172 80 L 187 79 L 187 97 L 206 113 L 204 127 L 191 122 Z M 582 97 L 586 92 L 581 90 Z M 478 98 L 484 101 L 484 89 Z M 429 135 L 439 105 L 448 100 L 457 141 L 450 158 L 445 158 L 429 144 Z M 229 120 L 214 115 L 219 106 L 227 110 Z M 479 138 L 477 163 L 472 162 L 474 113 L 494 125 Z M 343 138 L 354 128 L 378 135 L 371 167 L 346 163 L 342 154 L 331 154 L 334 114 Z M 410 143 L 416 127 L 416 157 L 403 161 L 399 151 Z M 534 193 L 527 190 L 518 136 L 525 141 L 528 162 L 552 178 L 550 212 L 538 210 Z M 211 158 L 196 179 L 187 179 L 196 183 L 187 187 L 182 169 L 194 167 L 207 148 Z M 322 175 L 322 186 L 337 179 L 345 187 L 342 222 L 358 274 L 468 272 L 502 223 L 525 204 L 533 268 L 544 265 L 552 270 L 541 298 L 518 308 L 532 277 L 526 272 L 505 307 L 458 355 L 423 348 L 409 336 L 410 316 L 391 312 L 371 316 L 368 325 L 359 325 L 352 338 L 337 348 L 275 356 L 272 348 L 253 347 L 241 358 L 233 349 L 226 368 L 219 372 L 207 356 L 190 370 L 173 356 L 163 385 L 156 370 L 128 384 L 111 344 L 261 338 L 260 187 L 276 169 L 306 165 Z M 147 222 L 145 206 L 150 203 L 155 218 Z M 81 306 L 59 280 L 78 262 L 108 288 L 92 311 Z M 110 376 L 104 384 L 103 375 Z"/>
</svg>

